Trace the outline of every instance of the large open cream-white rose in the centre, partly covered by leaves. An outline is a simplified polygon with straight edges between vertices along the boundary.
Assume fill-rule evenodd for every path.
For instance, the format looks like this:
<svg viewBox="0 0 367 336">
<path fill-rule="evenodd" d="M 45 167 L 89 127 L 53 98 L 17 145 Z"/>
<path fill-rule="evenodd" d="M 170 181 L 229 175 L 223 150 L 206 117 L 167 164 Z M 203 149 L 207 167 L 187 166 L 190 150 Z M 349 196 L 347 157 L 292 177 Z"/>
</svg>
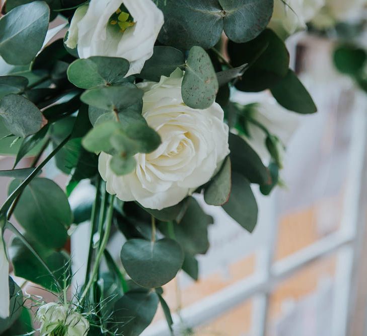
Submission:
<svg viewBox="0 0 367 336">
<path fill-rule="evenodd" d="M 208 182 L 229 154 L 228 126 L 221 106 L 214 103 L 195 110 L 183 103 L 182 72 L 176 70 L 160 83 L 139 85 L 143 117 L 162 139 L 151 154 L 137 154 L 136 169 L 116 176 L 110 155 L 101 153 L 99 171 L 107 191 L 125 201 L 137 200 L 143 207 L 164 209 L 178 204 L 191 189 Z"/>
</svg>

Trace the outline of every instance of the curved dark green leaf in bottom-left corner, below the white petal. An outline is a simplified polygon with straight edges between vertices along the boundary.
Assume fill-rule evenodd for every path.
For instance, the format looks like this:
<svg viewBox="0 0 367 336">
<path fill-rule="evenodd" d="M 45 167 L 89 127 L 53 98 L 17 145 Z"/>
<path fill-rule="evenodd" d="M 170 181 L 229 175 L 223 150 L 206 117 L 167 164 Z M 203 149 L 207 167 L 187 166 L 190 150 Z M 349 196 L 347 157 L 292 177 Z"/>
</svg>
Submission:
<svg viewBox="0 0 367 336">
<path fill-rule="evenodd" d="M 0 318 L 0 334 L 2 335 L 4 331 L 8 330 L 15 323 L 15 321 L 19 318 L 23 309 L 22 290 L 10 277 L 9 277 L 9 294 L 10 294 L 10 304 L 9 304 L 10 316 L 6 319 Z"/>
</svg>

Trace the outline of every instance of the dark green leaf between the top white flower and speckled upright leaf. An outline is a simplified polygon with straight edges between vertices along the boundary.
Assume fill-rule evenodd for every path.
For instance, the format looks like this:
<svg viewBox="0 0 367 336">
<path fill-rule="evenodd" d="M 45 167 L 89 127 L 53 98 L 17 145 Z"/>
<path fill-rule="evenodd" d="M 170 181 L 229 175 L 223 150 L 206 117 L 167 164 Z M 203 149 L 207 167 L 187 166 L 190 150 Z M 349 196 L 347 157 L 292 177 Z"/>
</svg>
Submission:
<svg viewBox="0 0 367 336">
<path fill-rule="evenodd" d="M 185 65 L 185 57 L 182 51 L 166 46 L 154 47 L 153 56 L 148 59 L 141 73 L 140 78 L 159 82 L 161 76 L 169 77 L 176 68 Z"/>
</svg>

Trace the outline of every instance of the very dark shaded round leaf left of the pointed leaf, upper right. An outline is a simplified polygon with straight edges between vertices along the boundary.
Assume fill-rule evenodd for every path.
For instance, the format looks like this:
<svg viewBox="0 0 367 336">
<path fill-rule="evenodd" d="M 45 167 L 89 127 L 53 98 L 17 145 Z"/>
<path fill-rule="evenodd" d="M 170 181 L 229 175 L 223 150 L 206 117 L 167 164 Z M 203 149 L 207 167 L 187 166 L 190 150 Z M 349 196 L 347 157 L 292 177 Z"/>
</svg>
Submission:
<svg viewBox="0 0 367 336">
<path fill-rule="evenodd" d="M 289 53 L 284 42 L 270 29 L 247 43 L 229 42 L 233 66 L 250 64 L 236 88 L 241 91 L 266 90 L 284 78 L 289 68 Z"/>
</svg>

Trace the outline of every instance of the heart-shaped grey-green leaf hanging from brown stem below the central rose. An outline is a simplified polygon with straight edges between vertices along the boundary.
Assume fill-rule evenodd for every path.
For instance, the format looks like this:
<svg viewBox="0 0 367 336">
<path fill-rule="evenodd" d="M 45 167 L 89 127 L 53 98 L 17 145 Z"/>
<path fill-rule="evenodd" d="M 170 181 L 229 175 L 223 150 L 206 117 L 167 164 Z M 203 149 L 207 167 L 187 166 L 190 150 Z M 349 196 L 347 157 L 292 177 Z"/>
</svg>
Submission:
<svg viewBox="0 0 367 336">
<path fill-rule="evenodd" d="M 184 253 L 181 246 L 172 239 L 155 242 L 131 239 L 122 246 L 121 260 L 125 271 L 135 283 L 146 288 L 157 288 L 176 277 Z"/>
</svg>

